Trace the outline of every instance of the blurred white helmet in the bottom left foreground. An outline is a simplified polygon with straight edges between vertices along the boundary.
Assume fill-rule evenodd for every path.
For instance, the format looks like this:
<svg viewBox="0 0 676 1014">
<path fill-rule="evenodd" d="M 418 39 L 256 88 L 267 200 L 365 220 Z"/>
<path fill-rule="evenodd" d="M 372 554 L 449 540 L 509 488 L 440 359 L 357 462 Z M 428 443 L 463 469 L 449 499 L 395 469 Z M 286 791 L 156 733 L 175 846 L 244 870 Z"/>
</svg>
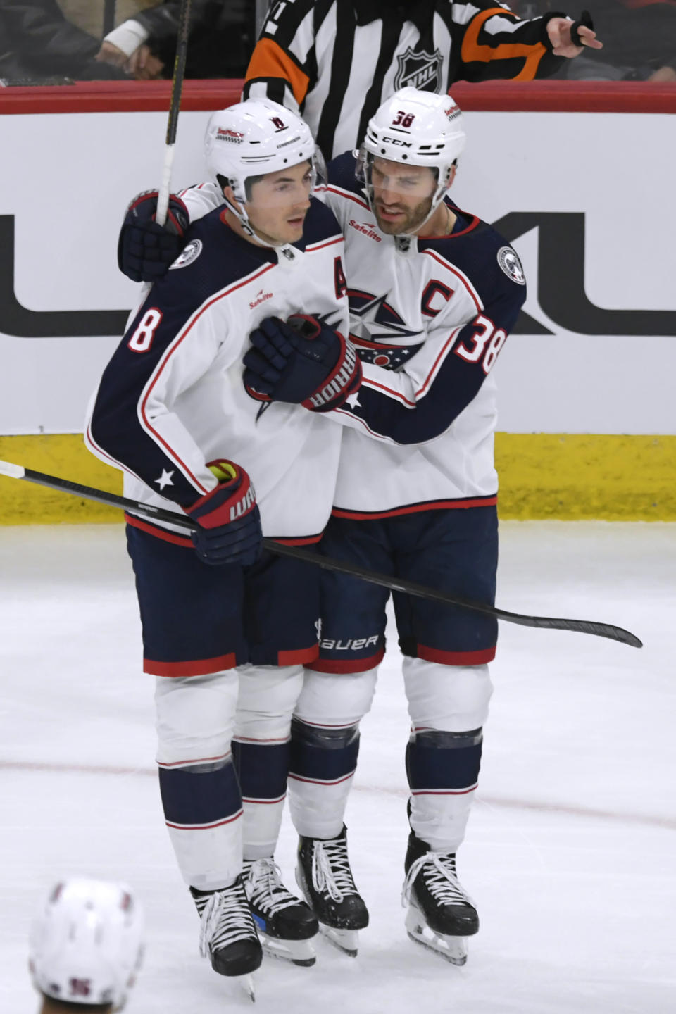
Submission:
<svg viewBox="0 0 676 1014">
<path fill-rule="evenodd" d="M 29 968 L 41 993 L 121 1010 L 143 956 L 143 912 L 123 883 L 57 883 L 30 931 Z"/>
</svg>

